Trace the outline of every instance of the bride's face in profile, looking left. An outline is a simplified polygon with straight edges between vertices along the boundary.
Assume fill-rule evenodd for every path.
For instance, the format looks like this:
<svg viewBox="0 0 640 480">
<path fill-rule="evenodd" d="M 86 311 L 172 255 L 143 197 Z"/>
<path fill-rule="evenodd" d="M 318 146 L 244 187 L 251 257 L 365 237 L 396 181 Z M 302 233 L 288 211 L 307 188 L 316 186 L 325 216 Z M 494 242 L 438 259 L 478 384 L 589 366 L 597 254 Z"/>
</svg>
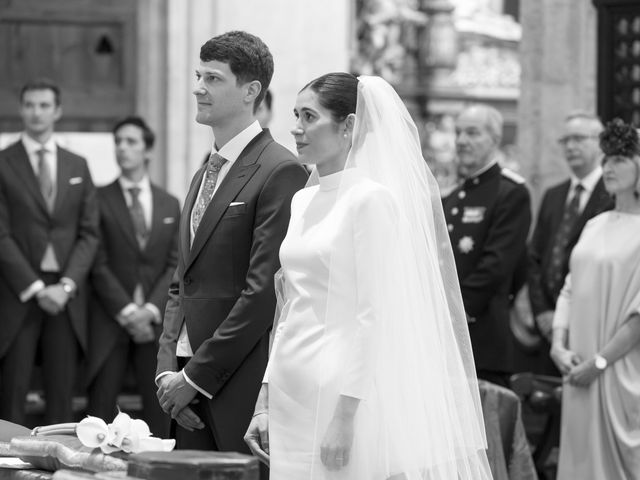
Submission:
<svg viewBox="0 0 640 480">
<path fill-rule="evenodd" d="M 293 114 L 296 125 L 291 134 L 296 140 L 300 161 L 316 165 L 321 175 L 341 171 L 349 151 L 345 122 L 335 122 L 331 112 L 320 105 L 318 95 L 309 88 L 298 94 Z"/>
</svg>

